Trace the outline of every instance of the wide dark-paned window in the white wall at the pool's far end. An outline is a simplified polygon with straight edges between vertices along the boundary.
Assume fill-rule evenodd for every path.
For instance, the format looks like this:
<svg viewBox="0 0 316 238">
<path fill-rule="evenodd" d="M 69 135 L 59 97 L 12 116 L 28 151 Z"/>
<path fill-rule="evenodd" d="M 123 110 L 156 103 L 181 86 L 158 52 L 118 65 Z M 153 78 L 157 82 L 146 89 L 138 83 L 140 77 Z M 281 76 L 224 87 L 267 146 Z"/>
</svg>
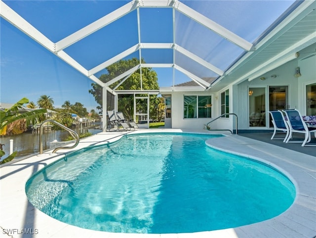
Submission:
<svg viewBox="0 0 316 238">
<path fill-rule="evenodd" d="M 184 118 L 211 118 L 211 96 L 184 96 Z"/>
</svg>

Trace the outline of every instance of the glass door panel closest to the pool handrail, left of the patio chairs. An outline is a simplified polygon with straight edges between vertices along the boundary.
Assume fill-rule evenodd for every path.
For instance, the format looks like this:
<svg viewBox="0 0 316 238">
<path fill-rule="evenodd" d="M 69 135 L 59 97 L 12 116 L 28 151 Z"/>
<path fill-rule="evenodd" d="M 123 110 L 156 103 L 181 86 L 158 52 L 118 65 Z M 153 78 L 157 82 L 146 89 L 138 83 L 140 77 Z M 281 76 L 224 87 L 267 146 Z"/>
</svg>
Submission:
<svg viewBox="0 0 316 238">
<path fill-rule="evenodd" d="M 249 88 L 249 126 L 266 126 L 266 88 Z"/>
</svg>

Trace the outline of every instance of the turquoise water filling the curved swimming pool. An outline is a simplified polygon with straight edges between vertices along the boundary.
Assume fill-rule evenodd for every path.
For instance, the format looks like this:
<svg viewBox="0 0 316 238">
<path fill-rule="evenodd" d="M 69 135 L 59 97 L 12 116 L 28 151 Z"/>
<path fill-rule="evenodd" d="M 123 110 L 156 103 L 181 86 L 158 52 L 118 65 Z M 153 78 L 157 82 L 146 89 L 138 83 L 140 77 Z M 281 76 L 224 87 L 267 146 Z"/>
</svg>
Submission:
<svg viewBox="0 0 316 238">
<path fill-rule="evenodd" d="M 277 216 L 295 188 L 275 169 L 205 145 L 214 136 L 143 134 L 80 150 L 26 184 L 30 202 L 78 227 L 188 233 Z"/>
</svg>

